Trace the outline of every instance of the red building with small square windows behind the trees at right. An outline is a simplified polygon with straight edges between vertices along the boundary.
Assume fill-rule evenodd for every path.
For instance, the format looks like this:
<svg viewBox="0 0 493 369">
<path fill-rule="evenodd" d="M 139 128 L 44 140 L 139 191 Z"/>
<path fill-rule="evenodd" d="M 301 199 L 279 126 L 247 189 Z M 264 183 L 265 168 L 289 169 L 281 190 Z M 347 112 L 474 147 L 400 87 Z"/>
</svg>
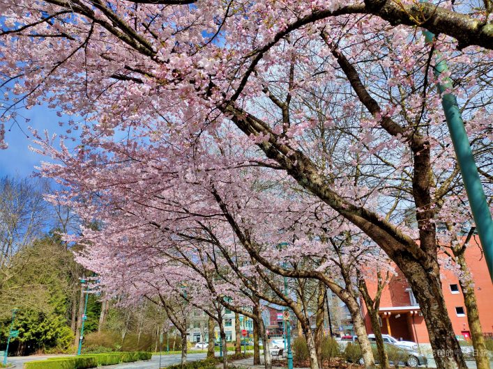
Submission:
<svg viewBox="0 0 493 369">
<path fill-rule="evenodd" d="M 471 239 L 466 251 L 466 260 L 473 274 L 483 332 L 491 333 L 493 332 L 493 285 L 485 258 L 476 242 L 478 240 Z M 441 283 L 443 297 L 446 301 L 448 315 L 452 321 L 455 334 L 470 338 L 467 312 L 457 277 L 453 272 L 442 270 Z M 374 296 L 376 287 L 376 285 L 368 283 L 369 292 L 372 296 Z M 368 333 L 372 333 L 370 317 L 367 315 L 364 304 L 363 314 L 365 315 L 366 330 Z M 379 316 L 382 333 L 416 343 L 430 343 L 420 307 L 401 273 L 393 276 L 384 291 L 382 291 Z"/>
</svg>

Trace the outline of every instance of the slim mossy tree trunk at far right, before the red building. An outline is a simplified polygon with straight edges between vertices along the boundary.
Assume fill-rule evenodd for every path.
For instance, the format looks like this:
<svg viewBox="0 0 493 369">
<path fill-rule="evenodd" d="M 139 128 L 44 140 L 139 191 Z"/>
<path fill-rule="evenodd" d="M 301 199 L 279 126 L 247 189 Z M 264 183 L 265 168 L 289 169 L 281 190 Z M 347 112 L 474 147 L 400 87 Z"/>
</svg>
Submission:
<svg viewBox="0 0 493 369">
<path fill-rule="evenodd" d="M 471 332 L 471 339 L 473 340 L 473 347 L 477 353 L 474 357 L 476 367 L 478 369 L 490 369 L 490 357 L 486 350 L 483 329 L 481 329 L 481 322 L 479 320 L 476 293 L 474 292 L 471 273 L 469 272 L 463 253 L 457 256 L 457 262 L 463 274 L 462 278 L 459 279 L 459 283 L 462 296 L 464 296 L 464 305 L 466 306 L 467 322 L 469 324 L 469 331 Z"/>
</svg>

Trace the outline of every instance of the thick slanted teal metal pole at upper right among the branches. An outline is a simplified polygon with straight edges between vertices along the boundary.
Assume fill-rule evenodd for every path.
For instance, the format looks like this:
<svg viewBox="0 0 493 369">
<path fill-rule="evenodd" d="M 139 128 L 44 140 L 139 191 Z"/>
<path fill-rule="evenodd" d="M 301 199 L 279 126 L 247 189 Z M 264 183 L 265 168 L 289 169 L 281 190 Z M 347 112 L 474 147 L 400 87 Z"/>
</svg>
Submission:
<svg viewBox="0 0 493 369">
<path fill-rule="evenodd" d="M 432 32 L 425 30 L 423 33 L 425 34 L 426 42 L 433 42 L 434 34 Z M 434 74 L 439 77 L 440 74 L 446 72 L 448 68 L 439 54 L 437 54 L 436 60 L 437 63 L 434 67 Z M 486 264 L 490 271 L 490 278 L 493 282 L 492 214 L 490 213 L 486 201 L 483 185 L 481 185 L 478 168 L 474 161 L 471 145 L 469 145 L 469 138 L 464 127 L 464 121 L 462 120 L 459 105 L 457 104 L 457 98 L 453 93 L 446 93 L 446 90 L 452 87 L 453 84 L 450 78 L 444 79 L 443 82 L 438 85 L 439 91 L 442 94 L 441 104 L 443 111 L 445 112 L 448 131 L 450 132 L 450 138 L 452 139 L 455 155 L 457 156 L 457 163 L 459 164 L 460 173 L 462 174 L 462 181 L 466 188 L 473 219 L 476 223 L 476 229 L 478 230 L 479 240 L 485 253 Z"/>
</svg>

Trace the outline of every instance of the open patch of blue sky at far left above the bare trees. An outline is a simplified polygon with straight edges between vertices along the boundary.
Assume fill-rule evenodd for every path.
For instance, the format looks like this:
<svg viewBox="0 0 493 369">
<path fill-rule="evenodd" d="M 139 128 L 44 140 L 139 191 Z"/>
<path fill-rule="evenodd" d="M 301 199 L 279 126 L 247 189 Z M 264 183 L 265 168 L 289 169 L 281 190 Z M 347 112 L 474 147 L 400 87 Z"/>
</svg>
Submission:
<svg viewBox="0 0 493 369">
<path fill-rule="evenodd" d="M 43 132 L 44 129 L 47 129 L 50 134 L 60 134 L 64 132 L 64 129 L 59 126 L 59 121 L 68 120 L 68 117 L 60 118 L 56 116 L 54 110 L 48 109 L 43 105 L 33 107 L 33 109 L 29 110 L 24 109 L 20 113 L 25 118 L 31 119 L 29 123 L 24 123 L 22 118 L 18 120 L 24 132 L 29 135 L 29 138 L 15 124 L 10 132 L 6 132 L 8 149 L 0 149 L 0 176 L 19 175 L 20 177 L 27 177 L 35 170 L 34 166 L 40 164 L 42 160 L 49 160 L 49 158 L 29 150 L 29 145 L 32 145 L 33 137 L 28 127 L 38 129 L 38 132 Z M 6 122 L 6 130 L 10 128 L 11 124 Z"/>
</svg>

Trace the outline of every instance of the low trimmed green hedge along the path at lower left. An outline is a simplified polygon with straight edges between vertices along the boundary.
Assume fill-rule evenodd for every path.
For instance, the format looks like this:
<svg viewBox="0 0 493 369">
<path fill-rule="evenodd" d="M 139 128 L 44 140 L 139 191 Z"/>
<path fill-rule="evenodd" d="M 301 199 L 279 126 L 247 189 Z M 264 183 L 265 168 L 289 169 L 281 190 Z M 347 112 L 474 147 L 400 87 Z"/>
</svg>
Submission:
<svg viewBox="0 0 493 369">
<path fill-rule="evenodd" d="M 108 352 L 105 354 L 84 354 L 72 357 L 51 357 L 46 360 L 29 361 L 24 369 L 86 369 L 98 366 L 150 360 L 151 352 Z"/>
</svg>

